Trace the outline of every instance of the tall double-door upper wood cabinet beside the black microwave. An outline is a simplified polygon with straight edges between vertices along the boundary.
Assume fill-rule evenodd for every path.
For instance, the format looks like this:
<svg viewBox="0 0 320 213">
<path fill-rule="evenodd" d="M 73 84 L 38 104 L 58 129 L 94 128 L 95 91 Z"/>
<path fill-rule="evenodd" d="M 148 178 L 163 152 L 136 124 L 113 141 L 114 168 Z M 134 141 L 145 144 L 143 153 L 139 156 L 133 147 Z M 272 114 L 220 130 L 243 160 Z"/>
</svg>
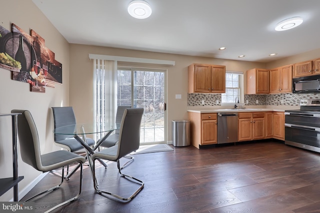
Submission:
<svg viewBox="0 0 320 213">
<path fill-rule="evenodd" d="M 292 92 L 292 65 L 270 69 L 269 93 Z"/>
</svg>

